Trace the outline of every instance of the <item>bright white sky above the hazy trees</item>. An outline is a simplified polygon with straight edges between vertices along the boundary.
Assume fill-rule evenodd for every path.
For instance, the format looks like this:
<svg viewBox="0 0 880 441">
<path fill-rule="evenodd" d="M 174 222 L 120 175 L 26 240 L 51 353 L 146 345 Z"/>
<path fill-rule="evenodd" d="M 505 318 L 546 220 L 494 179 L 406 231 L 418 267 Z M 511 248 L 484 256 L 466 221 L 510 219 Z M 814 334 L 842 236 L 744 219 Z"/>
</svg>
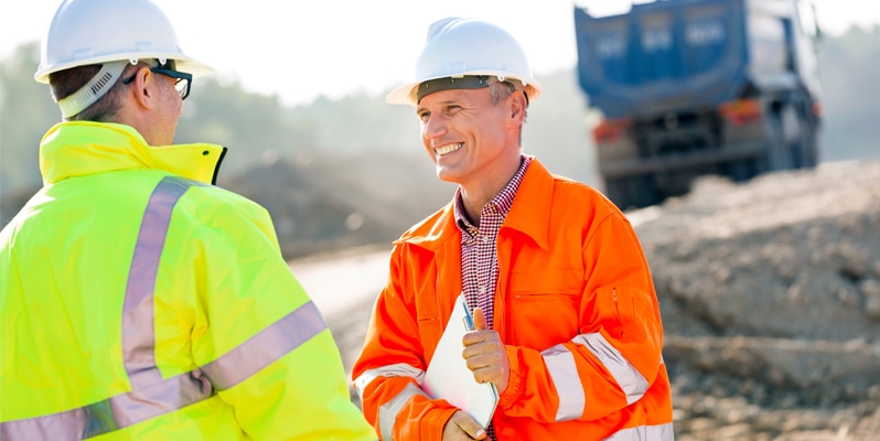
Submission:
<svg viewBox="0 0 880 441">
<path fill-rule="evenodd" d="M 627 0 L 578 0 L 619 8 Z M 760 0 L 759 0 L 760 1 Z M 572 2 L 562 0 L 155 0 L 184 52 L 286 105 L 320 95 L 382 93 L 409 78 L 428 25 L 451 15 L 481 18 L 513 33 L 537 75 L 575 65 Z M 814 0 L 833 35 L 880 23 L 878 0 Z M 40 41 L 60 0 L 0 1 L 0 60 Z M 130 20 L 138 20 L 137 17 Z M 34 69 L 36 66 L 34 66 Z M 195 86 L 197 93 L 197 83 Z"/>
</svg>

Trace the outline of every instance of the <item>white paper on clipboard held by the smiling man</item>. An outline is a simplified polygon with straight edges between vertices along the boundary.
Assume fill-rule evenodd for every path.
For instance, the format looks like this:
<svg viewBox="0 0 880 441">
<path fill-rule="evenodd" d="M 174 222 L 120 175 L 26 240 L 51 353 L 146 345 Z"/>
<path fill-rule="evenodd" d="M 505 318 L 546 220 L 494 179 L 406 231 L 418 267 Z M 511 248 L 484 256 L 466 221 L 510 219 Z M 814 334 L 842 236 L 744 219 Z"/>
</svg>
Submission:
<svg viewBox="0 0 880 441">
<path fill-rule="evenodd" d="M 446 399 L 450 405 L 468 412 L 483 427 L 487 427 L 498 404 L 498 392 L 492 383 L 476 383 L 461 356 L 464 348 L 461 338 L 471 327 L 473 319 L 468 301 L 464 294 L 460 294 L 425 373 L 421 387 L 432 398 Z"/>
</svg>

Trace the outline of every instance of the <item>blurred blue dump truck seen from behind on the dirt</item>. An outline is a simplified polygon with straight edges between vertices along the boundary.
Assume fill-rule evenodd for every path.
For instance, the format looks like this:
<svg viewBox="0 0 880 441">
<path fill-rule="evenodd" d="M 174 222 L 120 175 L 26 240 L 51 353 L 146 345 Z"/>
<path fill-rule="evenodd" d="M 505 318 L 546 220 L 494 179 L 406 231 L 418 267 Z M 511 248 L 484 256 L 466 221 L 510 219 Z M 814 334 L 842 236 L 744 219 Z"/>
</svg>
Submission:
<svg viewBox="0 0 880 441">
<path fill-rule="evenodd" d="M 605 195 L 623 209 L 814 168 L 822 120 L 808 0 L 659 0 L 592 15 L 575 4 L 577 75 Z"/>
</svg>

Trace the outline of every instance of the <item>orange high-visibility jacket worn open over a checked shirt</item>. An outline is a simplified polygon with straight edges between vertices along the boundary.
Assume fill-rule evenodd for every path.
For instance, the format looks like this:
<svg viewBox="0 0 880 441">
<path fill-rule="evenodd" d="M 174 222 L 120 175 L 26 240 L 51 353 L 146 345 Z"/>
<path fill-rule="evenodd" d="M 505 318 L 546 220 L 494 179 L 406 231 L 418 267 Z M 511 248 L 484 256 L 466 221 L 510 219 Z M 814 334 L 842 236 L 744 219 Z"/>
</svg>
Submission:
<svg viewBox="0 0 880 441">
<path fill-rule="evenodd" d="M 494 329 L 511 362 L 498 440 L 672 440 L 663 327 L 629 220 L 533 160 L 497 239 Z M 455 411 L 419 387 L 462 291 L 453 205 L 395 241 L 353 377 L 384 440 L 440 440 Z"/>
</svg>

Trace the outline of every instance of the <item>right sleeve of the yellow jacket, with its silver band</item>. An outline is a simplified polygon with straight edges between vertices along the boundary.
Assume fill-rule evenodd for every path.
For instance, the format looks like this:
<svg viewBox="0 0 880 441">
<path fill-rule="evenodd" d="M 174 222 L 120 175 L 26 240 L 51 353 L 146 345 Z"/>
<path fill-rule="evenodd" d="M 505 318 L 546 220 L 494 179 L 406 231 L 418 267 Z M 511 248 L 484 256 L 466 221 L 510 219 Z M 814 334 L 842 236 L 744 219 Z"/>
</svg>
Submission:
<svg viewBox="0 0 880 441">
<path fill-rule="evenodd" d="M 178 224 L 190 226 L 176 233 L 191 244 L 170 259 L 194 363 L 254 440 L 375 440 L 351 400 L 330 330 L 281 256 L 268 213 L 234 202 L 215 204 L 214 213 L 175 211 L 200 220 Z"/>
</svg>

